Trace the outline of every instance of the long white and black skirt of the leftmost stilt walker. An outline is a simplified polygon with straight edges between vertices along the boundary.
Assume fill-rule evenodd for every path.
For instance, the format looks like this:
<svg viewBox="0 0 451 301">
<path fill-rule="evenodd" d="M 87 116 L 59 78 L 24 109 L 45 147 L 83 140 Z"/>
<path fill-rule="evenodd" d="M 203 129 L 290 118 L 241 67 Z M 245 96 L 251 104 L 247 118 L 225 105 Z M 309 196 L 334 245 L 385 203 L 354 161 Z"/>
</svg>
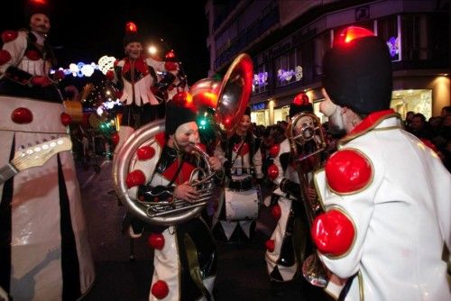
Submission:
<svg viewBox="0 0 451 301">
<path fill-rule="evenodd" d="M 11 120 L 19 107 L 32 112 L 32 123 Z M 12 161 L 22 145 L 27 148 L 28 143 L 67 136 L 60 122 L 62 104 L 0 96 L 0 110 L 0 166 Z M 74 161 L 66 150 L 41 163 L 0 185 L 0 219 L 11 221 L 0 226 L 2 237 L 11 233 L 11 256 L 0 252 L 0 273 L 9 273 L 10 281 L 0 286 L 14 299 L 76 299 L 92 285 L 94 265 Z M 8 249 L 8 242 L 0 243 L 3 250 Z M 5 266 L 8 261 L 9 267 Z"/>
</svg>

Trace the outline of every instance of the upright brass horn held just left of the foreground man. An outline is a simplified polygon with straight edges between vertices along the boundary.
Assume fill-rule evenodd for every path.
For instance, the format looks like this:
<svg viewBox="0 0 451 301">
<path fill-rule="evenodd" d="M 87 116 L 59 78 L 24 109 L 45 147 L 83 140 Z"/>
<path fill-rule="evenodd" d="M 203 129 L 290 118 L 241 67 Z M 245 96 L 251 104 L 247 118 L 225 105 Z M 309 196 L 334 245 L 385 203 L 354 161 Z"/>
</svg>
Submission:
<svg viewBox="0 0 451 301">
<path fill-rule="evenodd" d="M 313 223 L 313 219 L 321 211 L 318 197 L 312 199 L 308 196 L 309 178 L 306 171 L 306 163 L 313 171 L 320 168 L 321 152 L 326 149 L 324 133 L 321 129 L 319 118 L 311 113 L 299 113 L 292 117 L 290 136 L 291 154 L 296 160 L 297 172 L 301 188 L 301 201 L 304 205 L 308 218 L 308 227 Z M 310 233 L 310 229 L 308 229 Z M 316 252 L 309 255 L 302 264 L 302 275 L 308 282 L 316 287 L 326 287 L 328 278 L 327 270 L 318 259 Z"/>
</svg>

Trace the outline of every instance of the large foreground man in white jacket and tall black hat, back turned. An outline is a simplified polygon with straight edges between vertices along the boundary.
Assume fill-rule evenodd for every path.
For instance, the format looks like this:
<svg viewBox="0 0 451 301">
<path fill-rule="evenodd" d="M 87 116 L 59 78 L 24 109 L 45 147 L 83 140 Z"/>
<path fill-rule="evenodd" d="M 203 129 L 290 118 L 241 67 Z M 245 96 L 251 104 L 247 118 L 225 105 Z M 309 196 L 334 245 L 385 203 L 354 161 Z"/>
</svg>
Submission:
<svg viewBox="0 0 451 301">
<path fill-rule="evenodd" d="M 324 57 L 321 111 L 345 138 L 316 175 L 312 226 L 340 300 L 451 300 L 451 176 L 390 109 L 391 59 L 368 30 L 345 29 Z"/>
</svg>

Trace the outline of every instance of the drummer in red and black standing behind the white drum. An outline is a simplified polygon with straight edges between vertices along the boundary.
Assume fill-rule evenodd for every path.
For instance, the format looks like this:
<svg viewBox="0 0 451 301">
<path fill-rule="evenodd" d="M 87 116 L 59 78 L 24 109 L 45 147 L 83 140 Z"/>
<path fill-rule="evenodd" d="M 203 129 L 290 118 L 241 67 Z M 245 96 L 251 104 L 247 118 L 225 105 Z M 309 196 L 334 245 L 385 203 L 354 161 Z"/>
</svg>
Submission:
<svg viewBox="0 0 451 301">
<path fill-rule="evenodd" d="M 252 132 L 251 109 L 246 108 L 241 122 L 236 126 L 235 132 L 226 141 L 216 146 L 215 156 L 221 160 L 226 170 L 226 186 L 235 194 L 240 191 L 253 189 L 263 178 L 262 153 L 260 151 L 260 139 Z M 239 197 L 241 198 L 241 197 Z M 213 234 L 222 242 L 246 242 L 255 232 L 258 205 L 251 205 L 251 211 L 244 220 L 231 221 L 226 215 L 226 194 L 219 198 L 215 215 L 213 216 Z"/>
</svg>

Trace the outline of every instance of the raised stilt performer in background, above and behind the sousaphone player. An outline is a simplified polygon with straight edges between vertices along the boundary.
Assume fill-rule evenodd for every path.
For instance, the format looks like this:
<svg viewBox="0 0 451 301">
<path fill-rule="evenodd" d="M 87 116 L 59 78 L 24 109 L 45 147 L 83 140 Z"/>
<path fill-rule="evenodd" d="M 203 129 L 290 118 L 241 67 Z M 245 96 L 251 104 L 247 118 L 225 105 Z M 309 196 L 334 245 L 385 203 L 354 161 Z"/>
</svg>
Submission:
<svg viewBox="0 0 451 301">
<path fill-rule="evenodd" d="M 121 127 L 113 139 L 115 153 L 134 130 L 164 117 L 169 95 L 188 90 L 186 77 L 173 51 L 161 60 L 156 56 L 145 56 L 143 50 L 143 37 L 137 32 L 136 25 L 126 23 L 124 51 L 127 56 L 116 60 L 114 70 L 106 73 L 106 78 L 120 90 L 118 98 L 124 104 Z"/>
</svg>

